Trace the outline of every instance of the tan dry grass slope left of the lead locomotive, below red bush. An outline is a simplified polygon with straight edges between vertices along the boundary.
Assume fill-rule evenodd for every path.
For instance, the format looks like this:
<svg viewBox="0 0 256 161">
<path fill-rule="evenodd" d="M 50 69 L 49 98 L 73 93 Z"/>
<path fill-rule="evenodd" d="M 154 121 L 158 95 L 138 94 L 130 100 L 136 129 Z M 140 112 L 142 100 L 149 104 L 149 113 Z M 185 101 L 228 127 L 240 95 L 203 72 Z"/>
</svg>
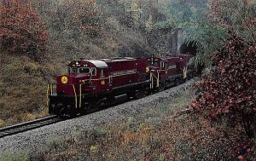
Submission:
<svg viewBox="0 0 256 161">
<path fill-rule="evenodd" d="M 0 126 L 16 124 L 47 114 L 46 84 L 55 71 L 26 56 L 9 55 L 0 70 Z"/>
</svg>

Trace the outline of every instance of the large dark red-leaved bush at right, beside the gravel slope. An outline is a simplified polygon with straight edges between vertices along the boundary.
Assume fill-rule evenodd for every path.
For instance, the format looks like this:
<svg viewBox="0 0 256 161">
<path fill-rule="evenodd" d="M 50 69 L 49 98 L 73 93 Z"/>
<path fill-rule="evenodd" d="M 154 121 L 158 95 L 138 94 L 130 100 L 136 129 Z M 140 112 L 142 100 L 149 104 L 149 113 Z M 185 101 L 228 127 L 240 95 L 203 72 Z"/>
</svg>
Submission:
<svg viewBox="0 0 256 161">
<path fill-rule="evenodd" d="M 212 72 L 195 86 L 192 102 L 195 112 L 211 120 L 228 118 L 253 135 L 256 116 L 256 45 L 246 43 L 235 32 L 229 33 L 224 47 L 212 56 Z"/>
</svg>

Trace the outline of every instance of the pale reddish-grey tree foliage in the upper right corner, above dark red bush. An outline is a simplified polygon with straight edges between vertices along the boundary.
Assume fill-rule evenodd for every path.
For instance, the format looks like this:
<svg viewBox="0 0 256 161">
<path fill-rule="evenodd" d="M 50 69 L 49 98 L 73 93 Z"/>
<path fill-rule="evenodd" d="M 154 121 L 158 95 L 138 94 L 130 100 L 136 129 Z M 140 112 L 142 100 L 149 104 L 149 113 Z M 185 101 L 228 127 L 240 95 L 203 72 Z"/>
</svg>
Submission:
<svg viewBox="0 0 256 161">
<path fill-rule="evenodd" d="M 209 4 L 209 22 L 226 30 L 232 28 L 247 42 L 255 42 L 256 9 L 245 0 L 216 0 Z"/>
</svg>

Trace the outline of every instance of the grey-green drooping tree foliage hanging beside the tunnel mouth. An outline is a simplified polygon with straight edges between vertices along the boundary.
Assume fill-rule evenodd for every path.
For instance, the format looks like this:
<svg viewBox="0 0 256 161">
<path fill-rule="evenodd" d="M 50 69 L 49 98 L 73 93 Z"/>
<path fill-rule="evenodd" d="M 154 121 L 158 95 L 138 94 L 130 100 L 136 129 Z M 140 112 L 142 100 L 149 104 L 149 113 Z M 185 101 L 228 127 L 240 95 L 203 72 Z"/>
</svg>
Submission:
<svg viewBox="0 0 256 161">
<path fill-rule="evenodd" d="M 211 65 L 211 54 L 219 48 L 226 35 L 221 26 L 212 25 L 207 19 L 207 0 L 205 1 L 172 1 L 169 5 L 170 19 L 182 29 L 183 41 L 194 43 L 198 55 L 196 64 Z"/>
</svg>

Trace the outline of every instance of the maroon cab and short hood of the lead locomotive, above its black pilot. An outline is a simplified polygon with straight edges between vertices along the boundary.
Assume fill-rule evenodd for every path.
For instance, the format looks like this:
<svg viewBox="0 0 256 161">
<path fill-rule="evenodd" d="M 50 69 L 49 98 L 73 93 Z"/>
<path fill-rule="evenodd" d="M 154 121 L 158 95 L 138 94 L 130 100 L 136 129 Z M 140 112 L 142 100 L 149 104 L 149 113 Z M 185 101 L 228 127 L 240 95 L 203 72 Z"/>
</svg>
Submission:
<svg viewBox="0 0 256 161">
<path fill-rule="evenodd" d="M 68 65 L 68 74 L 57 77 L 57 93 L 75 95 L 96 94 L 108 89 L 108 65 L 102 60 L 74 60 Z M 102 89 L 96 86 L 102 85 Z M 75 89 L 75 90 L 74 90 Z"/>
</svg>

